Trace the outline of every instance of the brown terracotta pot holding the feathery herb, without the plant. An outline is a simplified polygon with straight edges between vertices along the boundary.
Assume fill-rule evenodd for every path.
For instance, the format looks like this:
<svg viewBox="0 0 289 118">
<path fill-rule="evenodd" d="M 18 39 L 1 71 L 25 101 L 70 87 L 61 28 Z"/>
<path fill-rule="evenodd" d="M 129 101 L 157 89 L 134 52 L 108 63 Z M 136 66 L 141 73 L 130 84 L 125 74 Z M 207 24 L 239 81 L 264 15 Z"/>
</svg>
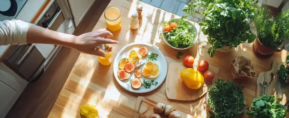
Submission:
<svg viewBox="0 0 289 118">
<path fill-rule="evenodd" d="M 281 52 L 284 49 L 284 45 L 281 49 L 278 48 L 278 50 L 273 50 L 271 47 L 263 45 L 259 38 L 257 37 L 257 40 L 254 41 L 252 48 L 256 55 L 263 57 L 263 58 L 269 58 L 271 57 L 274 52 Z"/>
</svg>

